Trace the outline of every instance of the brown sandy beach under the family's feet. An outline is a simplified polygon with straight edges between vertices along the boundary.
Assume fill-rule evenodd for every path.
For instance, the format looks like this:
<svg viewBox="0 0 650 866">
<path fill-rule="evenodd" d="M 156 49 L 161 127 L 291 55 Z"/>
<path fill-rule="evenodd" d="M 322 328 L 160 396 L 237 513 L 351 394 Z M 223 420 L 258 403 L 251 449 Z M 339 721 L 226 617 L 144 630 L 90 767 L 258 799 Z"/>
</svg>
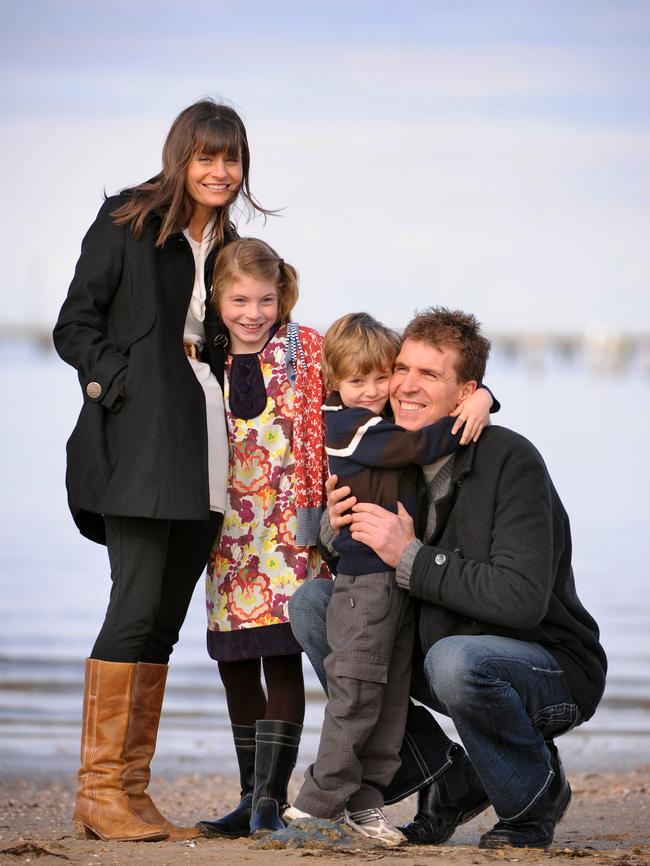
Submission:
<svg viewBox="0 0 650 866">
<path fill-rule="evenodd" d="M 64 862 L 83 866 L 214 866 L 216 863 L 260 863 L 268 866 L 304 864 L 305 857 L 318 857 L 322 866 L 333 866 L 341 858 L 359 861 L 383 860 L 401 866 L 470 866 L 499 862 L 567 864 L 587 863 L 616 866 L 650 864 L 650 765 L 628 773 L 582 773 L 571 775 L 573 800 L 558 826 L 555 843 L 548 852 L 516 850 L 481 851 L 480 834 L 495 820 L 489 810 L 460 827 L 444 846 L 405 846 L 397 850 L 263 850 L 249 840 L 196 839 L 191 842 L 101 842 L 73 837 L 71 821 L 74 779 L 70 775 L 9 779 L 2 783 L 0 799 L 0 863 L 23 864 L 38 860 L 39 866 L 61 866 Z M 290 794 L 299 779 L 294 776 Z M 200 818 L 223 814 L 238 798 L 232 776 L 185 775 L 152 783 L 151 792 L 160 809 L 178 823 L 192 825 Z M 415 811 L 415 798 L 387 809 L 395 823 Z"/>
</svg>

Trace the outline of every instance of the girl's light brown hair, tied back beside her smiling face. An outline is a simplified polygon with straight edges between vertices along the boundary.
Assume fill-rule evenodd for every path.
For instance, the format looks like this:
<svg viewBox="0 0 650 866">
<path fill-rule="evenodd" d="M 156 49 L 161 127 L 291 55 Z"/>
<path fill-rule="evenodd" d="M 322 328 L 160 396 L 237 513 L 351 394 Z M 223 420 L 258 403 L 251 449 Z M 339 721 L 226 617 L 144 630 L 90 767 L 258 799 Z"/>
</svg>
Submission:
<svg viewBox="0 0 650 866">
<path fill-rule="evenodd" d="M 214 263 L 210 301 L 219 312 L 226 289 L 238 277 L 273 283 L 278 293 L 278 323 L 291 321 L 291 310 L 298 300 L 298 272 L 276 251 L 258 238 L 239 238 L 219 252 Z"/>
</svg>

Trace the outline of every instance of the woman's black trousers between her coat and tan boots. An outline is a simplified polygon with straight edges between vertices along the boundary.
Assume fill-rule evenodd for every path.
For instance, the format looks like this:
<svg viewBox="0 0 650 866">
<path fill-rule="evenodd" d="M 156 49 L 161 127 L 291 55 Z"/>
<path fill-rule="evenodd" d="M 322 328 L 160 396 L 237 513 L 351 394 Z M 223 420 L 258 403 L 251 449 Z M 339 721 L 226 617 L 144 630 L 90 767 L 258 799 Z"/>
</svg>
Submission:
<svg viewBox="0 0 650 866">
<path fill-rule="evenodd" d="M 113 585 L 91 658 L 167 664 L 221 519 L 104 517 Z"/>
</svg>

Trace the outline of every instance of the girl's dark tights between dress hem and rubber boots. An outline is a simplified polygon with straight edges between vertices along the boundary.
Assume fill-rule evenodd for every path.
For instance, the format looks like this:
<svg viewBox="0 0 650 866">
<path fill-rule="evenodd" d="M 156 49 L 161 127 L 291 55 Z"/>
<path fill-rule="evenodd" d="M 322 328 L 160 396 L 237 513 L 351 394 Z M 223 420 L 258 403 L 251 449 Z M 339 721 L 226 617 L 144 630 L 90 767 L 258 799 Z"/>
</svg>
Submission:
<svg viewBox="0 0 650 866">
<path fill-rule="evenodd" d="M 262 688 L 262 666 L 268 697 Z M 278 719 L 302 725 L 305 684 L 301 653 L 219 662 L 219 673 L 233 725 L 254 725 L 258 719 Z"/>
</svg>

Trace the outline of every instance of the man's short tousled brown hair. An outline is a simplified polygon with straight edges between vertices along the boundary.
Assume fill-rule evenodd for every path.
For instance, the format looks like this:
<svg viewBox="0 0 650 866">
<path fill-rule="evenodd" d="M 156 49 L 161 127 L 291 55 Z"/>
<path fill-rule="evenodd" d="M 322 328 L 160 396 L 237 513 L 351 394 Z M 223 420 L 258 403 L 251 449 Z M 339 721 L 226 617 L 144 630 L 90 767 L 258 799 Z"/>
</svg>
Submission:
<svg viewBox="0 0 650 866">
<path fill-rule="evenodd" d="M 483 382 L 490 341 L 481 334 L 481 323 L 471 313 L 447 307 L 428 307 L 406 326 L 403 340 L 418 340 L 458 352 L 456 375 L 461 382 Z"/>
</svg>

